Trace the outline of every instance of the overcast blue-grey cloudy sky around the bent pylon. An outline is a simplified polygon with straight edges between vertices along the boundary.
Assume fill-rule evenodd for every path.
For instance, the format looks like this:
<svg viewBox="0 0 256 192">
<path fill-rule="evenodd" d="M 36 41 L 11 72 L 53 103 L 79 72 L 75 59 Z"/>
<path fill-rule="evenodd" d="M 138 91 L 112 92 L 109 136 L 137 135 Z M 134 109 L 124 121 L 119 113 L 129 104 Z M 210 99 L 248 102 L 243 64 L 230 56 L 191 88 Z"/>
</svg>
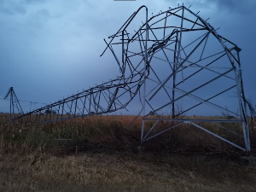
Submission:
<svg viewBox="0 0 256 192">
<path fill-rule="evenodd" d="M 49 103 L 115 79 L 113 55 L 100 57 L 103 38 L 142 5 L 156 14 L 178 3 L 210 18 L 218 34 L 241 48 L 245 94 L 256 104 L 255 0 L 1 0 L 0 98 L 13 86 L 22 101 Z M 30 103 L 20 104 L 29 110 Z M 1 99 L 0 112 L 8 110 Z"/>
</svg>

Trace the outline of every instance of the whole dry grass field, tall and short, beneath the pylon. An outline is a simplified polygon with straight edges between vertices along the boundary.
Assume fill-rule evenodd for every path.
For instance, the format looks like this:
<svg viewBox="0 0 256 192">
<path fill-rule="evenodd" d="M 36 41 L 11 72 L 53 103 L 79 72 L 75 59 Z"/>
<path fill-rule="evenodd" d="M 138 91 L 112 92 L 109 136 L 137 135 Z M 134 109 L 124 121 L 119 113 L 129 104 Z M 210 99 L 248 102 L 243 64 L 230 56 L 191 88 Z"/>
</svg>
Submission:
<svg viewBox="0 0 256 192">
<path fill-rule="evenodd" d="M 144 143 L 141 154 L 141 119 L 133 119 L 20 125 L 1 114 L 0 191 L 256 191 L 256 167 L 239 164 L 240 150 L 182 125 Z"/>
</svg>

